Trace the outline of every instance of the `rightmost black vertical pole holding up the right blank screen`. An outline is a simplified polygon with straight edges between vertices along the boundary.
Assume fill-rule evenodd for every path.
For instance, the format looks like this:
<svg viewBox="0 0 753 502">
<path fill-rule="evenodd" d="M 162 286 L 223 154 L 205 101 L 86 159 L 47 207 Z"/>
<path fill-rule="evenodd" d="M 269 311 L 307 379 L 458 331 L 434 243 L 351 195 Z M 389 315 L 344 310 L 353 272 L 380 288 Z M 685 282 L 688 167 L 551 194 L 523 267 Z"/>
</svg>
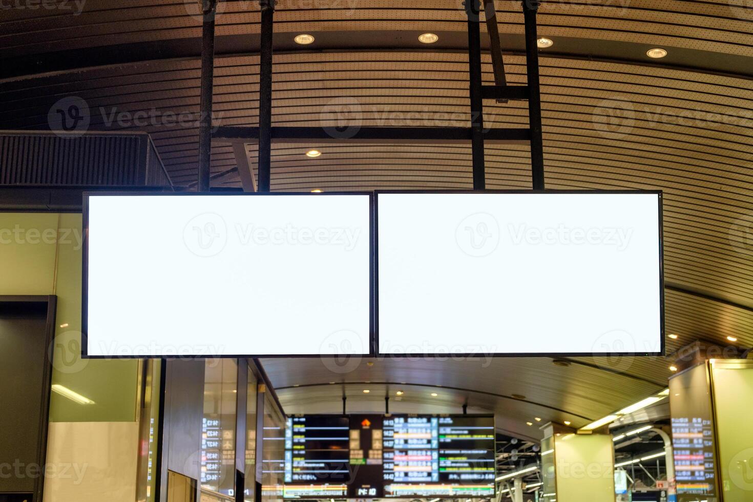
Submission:
<svg viewBox="0 0 753 502">
<path fill-rule="evenodd" d="M 544 190 L 544 141 L 541 138 L 541 94 L 538 84 L 538 35 L 536 11 L 539 0 L 523 0 L 526 23 L 526 74 L 528 76 L 528 120 L 531 127 L 531 177 L 534 190 Z"/>
</svg>

